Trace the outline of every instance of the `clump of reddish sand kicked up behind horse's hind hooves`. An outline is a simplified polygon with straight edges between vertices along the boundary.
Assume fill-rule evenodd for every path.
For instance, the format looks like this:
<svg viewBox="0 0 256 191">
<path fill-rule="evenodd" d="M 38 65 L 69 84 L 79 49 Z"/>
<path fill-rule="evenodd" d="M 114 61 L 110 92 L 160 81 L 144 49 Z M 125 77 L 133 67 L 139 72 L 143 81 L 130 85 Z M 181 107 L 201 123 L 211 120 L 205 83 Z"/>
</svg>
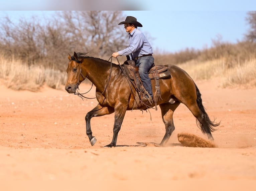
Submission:
<svg viewBox="0 0 256 191">
<path fill-rule="evenodd" d="M 178 140 L 183 146 L 187 147 L 217 147 L 209 140 L 205 140 L 191 133 L 178 133 Z"/>
</svg>

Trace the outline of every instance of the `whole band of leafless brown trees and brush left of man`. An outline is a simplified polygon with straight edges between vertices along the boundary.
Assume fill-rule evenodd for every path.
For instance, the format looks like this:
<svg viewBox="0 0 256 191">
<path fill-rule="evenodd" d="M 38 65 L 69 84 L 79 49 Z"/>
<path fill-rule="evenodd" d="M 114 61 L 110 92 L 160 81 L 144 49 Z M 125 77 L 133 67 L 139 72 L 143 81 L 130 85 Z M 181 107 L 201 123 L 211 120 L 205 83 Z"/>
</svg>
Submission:
<svg viewBox="0 0 256 191">
<path fill-rule="evenodd" d="M 20 18 L 14 23 L 1 18 L 0 51 L 29 65 L 63 71 L 68 53 L 84 51 L 102 58 L 125 48 L 121 16 L 121 11 L 61 11 L 44 20 Z"/>
</svg>

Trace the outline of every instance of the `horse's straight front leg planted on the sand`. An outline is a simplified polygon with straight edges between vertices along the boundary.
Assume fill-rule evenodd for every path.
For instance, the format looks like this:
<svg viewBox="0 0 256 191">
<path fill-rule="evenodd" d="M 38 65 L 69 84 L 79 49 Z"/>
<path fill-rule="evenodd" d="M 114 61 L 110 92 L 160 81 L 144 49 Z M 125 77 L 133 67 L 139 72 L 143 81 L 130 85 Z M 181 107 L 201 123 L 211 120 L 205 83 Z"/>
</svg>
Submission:
<svg viewBox="0 0 256 191">
<path fill-rule="evenodd" d="M 119 104 L 115 107 L 115 122 L 113 127 L 113 138 L 110 144 L 106 145 L 105 147 L 115 147 L 117 142 L 117 135 L 121 129 L 121 125 L 124 120 L 125 112 L 127 109 L 127 105 L 124 106 L 123 104 Z"/>
</svg>

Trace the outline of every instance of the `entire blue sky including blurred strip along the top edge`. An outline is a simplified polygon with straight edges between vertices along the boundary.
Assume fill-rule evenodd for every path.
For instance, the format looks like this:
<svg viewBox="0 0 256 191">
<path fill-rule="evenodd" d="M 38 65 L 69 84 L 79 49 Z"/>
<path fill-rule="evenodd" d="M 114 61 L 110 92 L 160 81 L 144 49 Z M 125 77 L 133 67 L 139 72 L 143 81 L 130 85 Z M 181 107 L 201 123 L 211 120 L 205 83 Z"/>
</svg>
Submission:
<svg viewBox="0 0 256 191">
<path fill-rule="evenodd" d="M 154 52 L 178 52 L 186 48 L 210 48 L 212 41 L 217 39 L 230 43 L 242 41 L 249 29 L 245 20 L 247 12 L 256 10 L 255 0 L 108 0 L 101 1 L 100 5 L 96 3 L 100 1 L 94 0 L 92 4 L 91 0 L 73 0 L 72 3 L 69 0 L 23 0 L 22 3 L 9 0 L 8 4 L 1 3 L 3 11 L 0 11 L 0 17 L 8 15 L 18 19 L 31 15 L 47 16 L 52 13 L 50 10 L 136 8 L 139 11 L 124 11 L 122 21 L 126 16 L 136 17 L 143 25 L 139 30 L 150 39 Z"/>
</svg>

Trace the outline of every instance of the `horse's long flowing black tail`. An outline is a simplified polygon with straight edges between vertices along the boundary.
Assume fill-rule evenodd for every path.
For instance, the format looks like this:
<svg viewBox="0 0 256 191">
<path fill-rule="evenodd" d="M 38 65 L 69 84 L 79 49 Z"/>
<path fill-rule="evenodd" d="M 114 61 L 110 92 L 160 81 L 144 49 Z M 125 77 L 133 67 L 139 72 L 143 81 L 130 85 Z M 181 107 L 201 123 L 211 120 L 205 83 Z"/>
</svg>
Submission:
<svg viewBox="0 0 256 191">
<path fill-rule="evenodd" d="M 200 108 L 200 110 L 202 111 L 202 123 L 197 119 L 197 126 L 199 128 L 201 128 L 202 132 L 203 133 L 208 133 L 208 132 L 213 132 L 217 129 L 215 129 L 214 127 L 217 127 L 220 125 L 221 122 L 217 123 L 215 122 L 215 119 L 214 121 L 211 121 L 208 114 L 206 113 L 205 111 L 205 107 L 202 103 L 202 98 L 201 98 L 201 93 L 197 87 L 197 85 L 195 84 L 196 86 L 196 90 L 197 90 L 197 104 Z"/>
</svg>

